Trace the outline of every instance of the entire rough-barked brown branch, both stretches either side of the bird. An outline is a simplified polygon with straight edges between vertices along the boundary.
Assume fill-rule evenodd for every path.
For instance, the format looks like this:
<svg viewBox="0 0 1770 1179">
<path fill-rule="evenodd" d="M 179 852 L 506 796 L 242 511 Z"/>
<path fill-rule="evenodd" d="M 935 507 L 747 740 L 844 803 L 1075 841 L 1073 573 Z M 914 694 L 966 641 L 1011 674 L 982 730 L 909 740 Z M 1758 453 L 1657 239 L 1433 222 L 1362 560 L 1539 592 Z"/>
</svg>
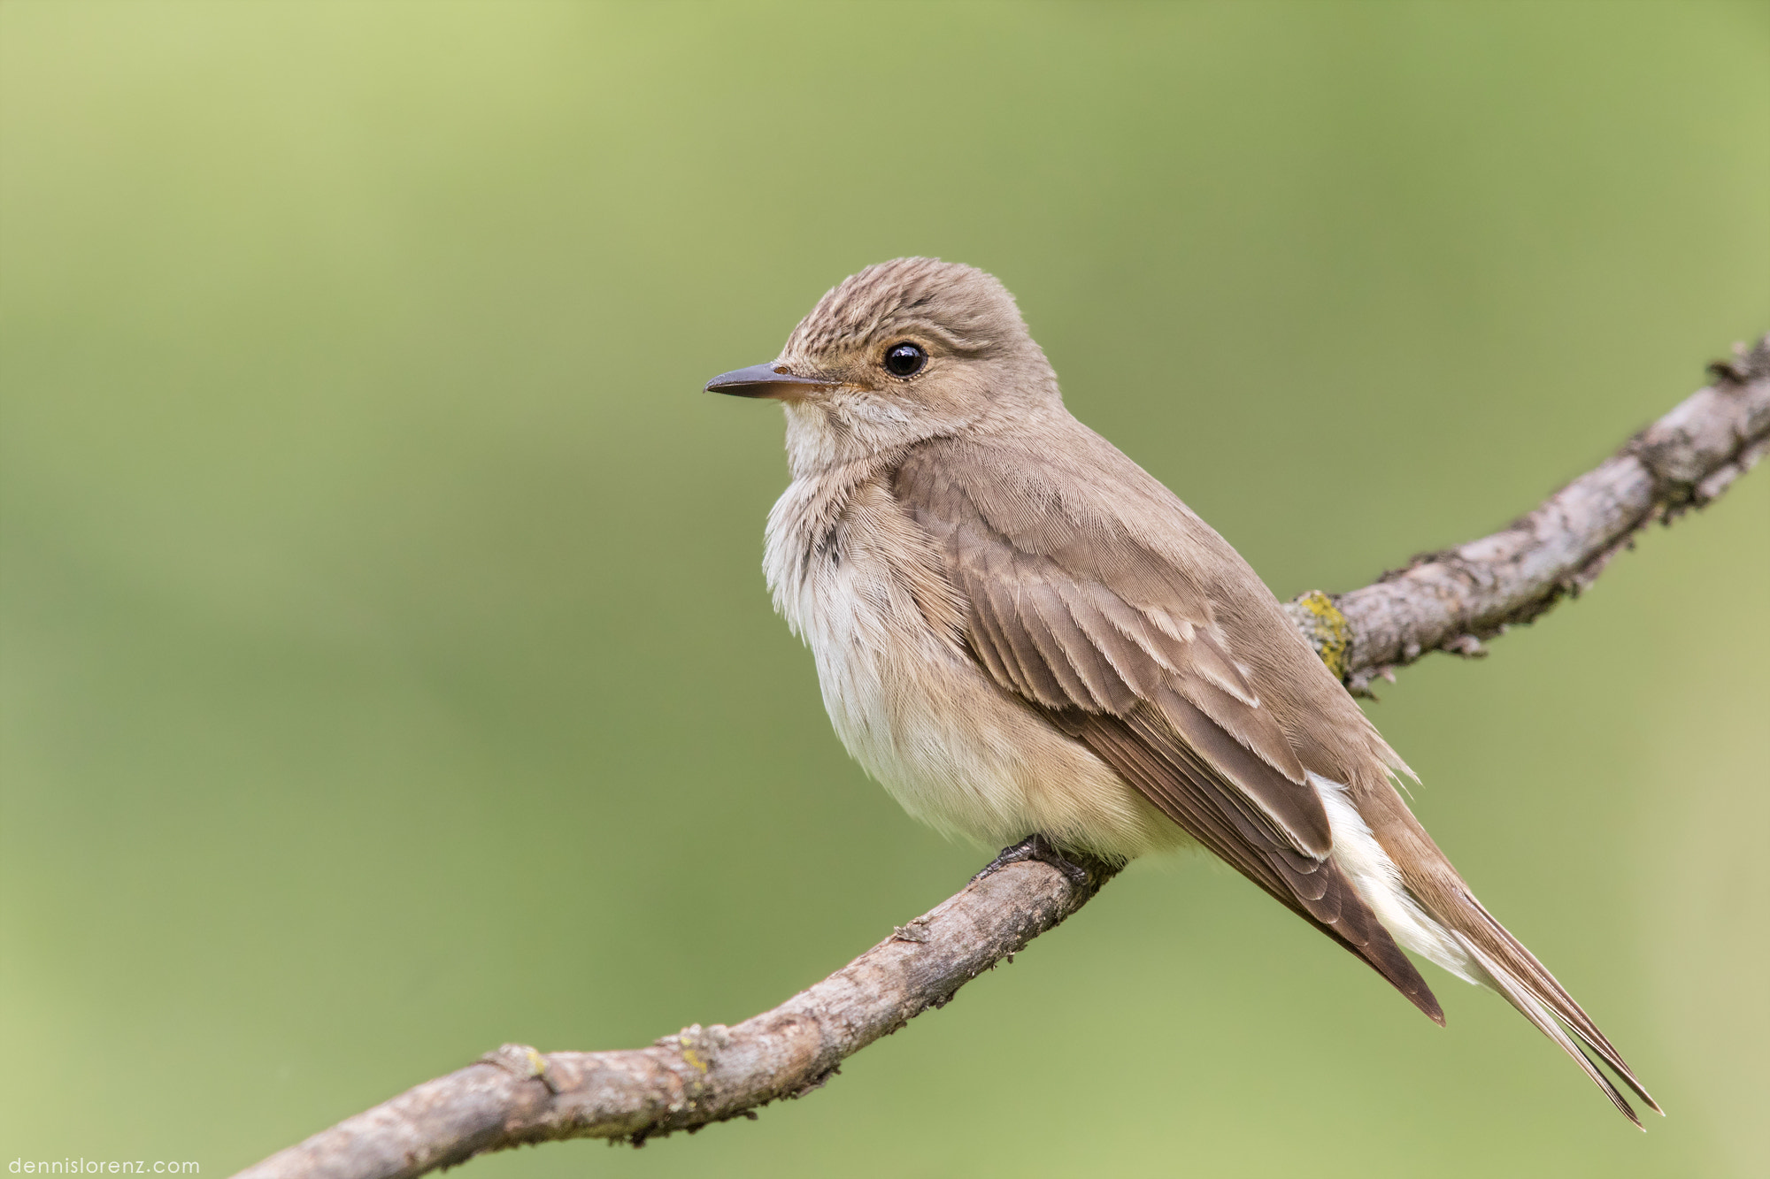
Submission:
<svg viewBox="0 0 1770 1179">
<path fill-rule="evenodd" d="M 1414 558 L 1375 584 L 1289 604 L 1354 692 L 1372 676 L 1481 641 L 1577 595 L 1653 520 L 1701 508 L 1770 450 L 1770 335 L 1710 366 L 1715 382 L 1504 531 Z M 504 1044 L 241 1172 L 250 1179 L 396 1179 L 485 1151 L 558 1138 L 641 1144 L 821 1087 L 843 1059 L 896 1032 L 1112 878 L 1011 864 L 912 921 L 830 977 L 736 1027 L 699 1023 L 650 1048 L 540 1053 Z"/>
</svg>

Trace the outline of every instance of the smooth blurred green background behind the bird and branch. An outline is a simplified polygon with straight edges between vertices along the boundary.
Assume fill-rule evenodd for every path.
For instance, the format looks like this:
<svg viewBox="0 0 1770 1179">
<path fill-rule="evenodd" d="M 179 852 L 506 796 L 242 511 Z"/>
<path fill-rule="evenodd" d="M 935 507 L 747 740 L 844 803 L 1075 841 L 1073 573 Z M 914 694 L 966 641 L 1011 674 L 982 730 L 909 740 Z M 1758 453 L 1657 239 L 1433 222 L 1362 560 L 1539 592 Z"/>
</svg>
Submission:
<svg viewBox="0 0 1770 1179">
<path fill-rule="evenodd" d="M 1770 7 L 0 5 L 0 1161 L 223 1174 L 503 1041 L 786 998 L 981 853 L 772 616 L 773 407 L 894 255 L 1280 595 L 1770 328 Z M 1747 1175 L 1770 473 L 1374 715 L 1671 1110 L 1140 864 L 828 1089 L 542 1175 Z"/>
</svg>

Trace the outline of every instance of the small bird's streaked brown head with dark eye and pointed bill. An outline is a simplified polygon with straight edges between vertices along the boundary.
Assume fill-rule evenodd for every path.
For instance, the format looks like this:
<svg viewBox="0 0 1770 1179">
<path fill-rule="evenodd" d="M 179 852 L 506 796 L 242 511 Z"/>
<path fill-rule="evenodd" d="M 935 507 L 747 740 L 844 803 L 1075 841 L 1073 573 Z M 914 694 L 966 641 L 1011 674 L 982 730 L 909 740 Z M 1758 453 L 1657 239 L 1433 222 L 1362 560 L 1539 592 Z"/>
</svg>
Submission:
<svg viewBox="0 0 1770 1179">
<path fill-rule="evenodd" d="M 993 274 L 938 258 L 844 278 L 779 358 L 706 388 L 782 402 L 795 473 L 1060 404 L 1014 296 Z"/>
</svg>

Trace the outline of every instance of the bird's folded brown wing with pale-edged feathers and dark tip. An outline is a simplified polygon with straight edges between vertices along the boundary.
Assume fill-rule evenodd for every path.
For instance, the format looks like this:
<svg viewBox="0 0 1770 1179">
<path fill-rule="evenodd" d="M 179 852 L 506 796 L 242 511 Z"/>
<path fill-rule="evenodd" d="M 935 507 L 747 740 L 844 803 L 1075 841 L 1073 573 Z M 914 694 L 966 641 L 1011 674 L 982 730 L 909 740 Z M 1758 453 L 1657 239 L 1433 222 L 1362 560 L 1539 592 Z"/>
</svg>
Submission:
<svg viewBox="0 0 1770 1179">
<path fill-rule="evenodd" d="M 1322 800 L 1195 572 L 1028 450 L 936 439 L 903 460 L 892 490 L 936 540 L 966 600 L 968 646 L 998 685 L 1443 1023 L 1329 859 Z"/>
</svg>

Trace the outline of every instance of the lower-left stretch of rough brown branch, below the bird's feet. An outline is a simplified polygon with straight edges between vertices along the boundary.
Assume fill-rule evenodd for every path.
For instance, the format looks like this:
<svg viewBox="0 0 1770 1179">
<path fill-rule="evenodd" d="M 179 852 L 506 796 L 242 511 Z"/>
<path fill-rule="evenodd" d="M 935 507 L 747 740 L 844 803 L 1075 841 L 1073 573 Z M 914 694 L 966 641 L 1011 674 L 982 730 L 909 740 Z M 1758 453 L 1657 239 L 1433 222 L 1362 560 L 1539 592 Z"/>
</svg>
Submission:
<svg viewBox="0 0 1770 1179">
<path fill-rule="evenodd" d="M 540 1053 L 504 1044 L 448 1076 L 241 1172 L 251 1179 L 391 1179 L 526 1142 L 699 1129 L 821 1087 L 844 1057 L 889 1036 L 1089 903 L 1043 862 L 974 880 L 825 981 L 736 1027 L 685 1027 L 650 1048 Z"/>
</svg>

